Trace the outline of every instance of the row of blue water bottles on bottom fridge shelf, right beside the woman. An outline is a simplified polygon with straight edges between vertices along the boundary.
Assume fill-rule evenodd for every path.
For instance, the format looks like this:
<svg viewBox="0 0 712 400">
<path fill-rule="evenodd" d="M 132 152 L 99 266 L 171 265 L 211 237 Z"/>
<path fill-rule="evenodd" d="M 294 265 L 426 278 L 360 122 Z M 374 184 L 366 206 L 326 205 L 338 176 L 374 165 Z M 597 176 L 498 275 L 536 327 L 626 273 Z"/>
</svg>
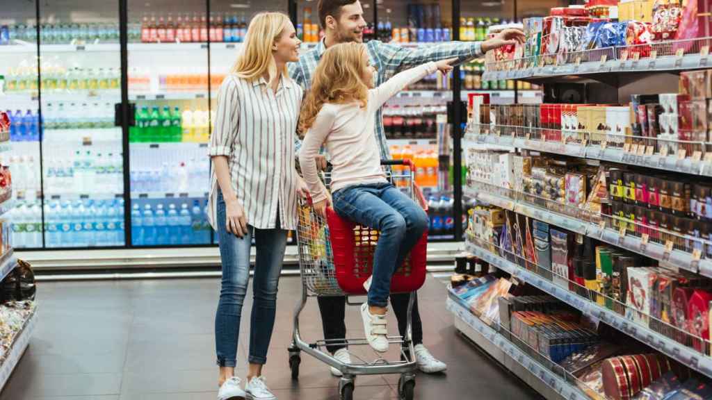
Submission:
<svg viewBox="0 0 712 400">
<path fill-rule="evenodd" d="M 134 246 L 190 245 L 210 243 L 210 225 L 206 208 L 194 200 L 187 202 L 158 201 L 157 204 L 134 204 L 131 210 Z"/>
</svg>

